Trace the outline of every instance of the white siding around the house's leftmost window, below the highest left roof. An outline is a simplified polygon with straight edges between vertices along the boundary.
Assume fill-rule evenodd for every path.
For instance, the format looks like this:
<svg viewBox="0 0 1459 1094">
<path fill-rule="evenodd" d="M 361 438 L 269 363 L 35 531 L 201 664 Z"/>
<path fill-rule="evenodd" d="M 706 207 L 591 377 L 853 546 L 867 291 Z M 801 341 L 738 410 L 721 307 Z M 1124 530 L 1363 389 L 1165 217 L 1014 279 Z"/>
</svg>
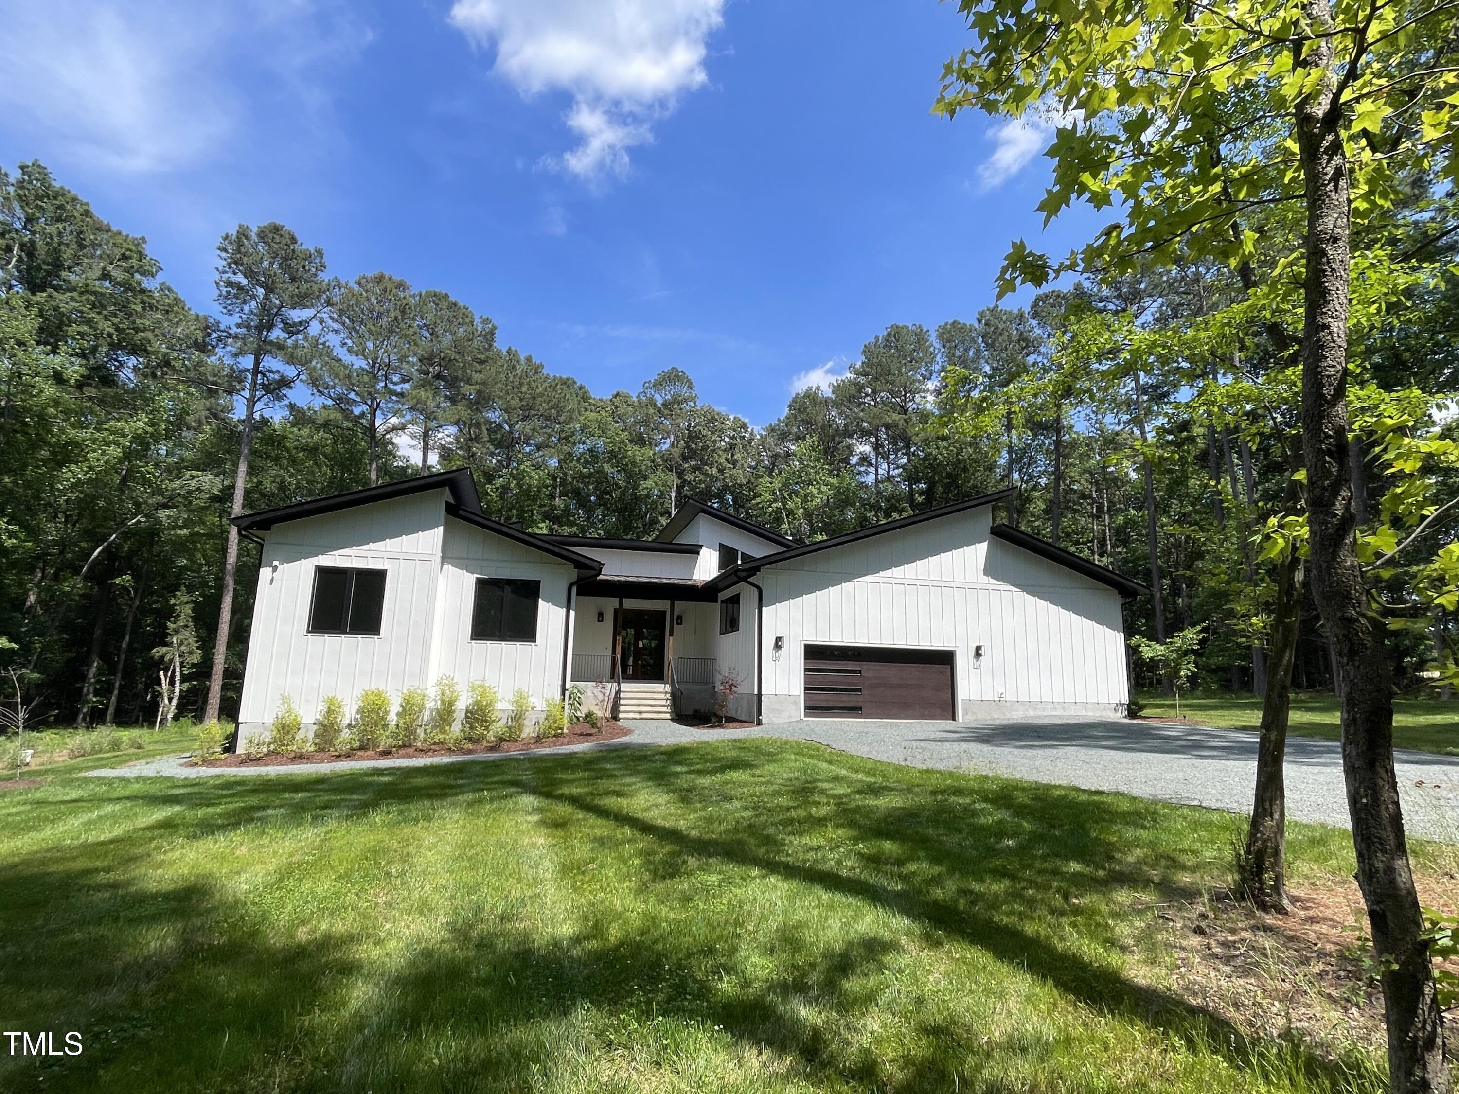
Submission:
<svg viewBox="0 0 1459 1094">
<path fill-rule="evenodd" d="M 441 567 L 446 492 L 430 490 L 274 525 L 263 534 L 239 726 L 267 725 L 287 694 L 305 722 L 338 696 L 423 687 Z M 385 570 L 381 633 L 311 635 L 317 566 Z"/>
</svg>

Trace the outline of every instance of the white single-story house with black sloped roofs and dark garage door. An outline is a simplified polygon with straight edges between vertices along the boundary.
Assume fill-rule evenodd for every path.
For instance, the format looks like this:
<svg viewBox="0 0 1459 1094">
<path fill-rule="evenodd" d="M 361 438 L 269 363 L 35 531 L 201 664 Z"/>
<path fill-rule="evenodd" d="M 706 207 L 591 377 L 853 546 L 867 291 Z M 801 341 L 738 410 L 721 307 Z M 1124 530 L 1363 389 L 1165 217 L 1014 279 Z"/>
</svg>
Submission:
<svg viewBox="0 0 1459 1094">
<path fill-rule="evenodd" d="M 236 518 L 263 544 L 241 740 L 280 696 L 397 696 L 454 677 L 579 684 L 622 718 L 1119 715 L 1122 604 L 1145 586 L 975 497 L 820 543 L 700 502 L 657 540 L 544 535 L 481 512 L 470 471 Z"/>
</svg>

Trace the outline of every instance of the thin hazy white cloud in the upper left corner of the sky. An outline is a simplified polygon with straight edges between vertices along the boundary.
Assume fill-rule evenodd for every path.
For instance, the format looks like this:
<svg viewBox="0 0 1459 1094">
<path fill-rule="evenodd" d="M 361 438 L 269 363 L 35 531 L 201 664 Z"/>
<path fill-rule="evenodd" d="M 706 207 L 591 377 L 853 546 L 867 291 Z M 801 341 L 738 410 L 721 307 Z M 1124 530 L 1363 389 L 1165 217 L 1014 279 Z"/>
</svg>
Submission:
<svg viewBox="0 0 1459 1094">
<path fill-rule="evenodd" d="M 0 25 L 10 124 L 47 155 L 128 174 L 225 158 L 258 98 L 248 77 L 295 114 L 318 108 L 321 61 L 368 41 L 333 0 L 0 0 Z"/>
</svg>

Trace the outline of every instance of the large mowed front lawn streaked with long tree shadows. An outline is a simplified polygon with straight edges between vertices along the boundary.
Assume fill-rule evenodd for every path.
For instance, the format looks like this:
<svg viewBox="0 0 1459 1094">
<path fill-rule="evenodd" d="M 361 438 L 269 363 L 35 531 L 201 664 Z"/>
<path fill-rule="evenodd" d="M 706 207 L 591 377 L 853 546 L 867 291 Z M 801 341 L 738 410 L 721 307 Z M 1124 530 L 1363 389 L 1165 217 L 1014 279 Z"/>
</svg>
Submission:
<svg viewBox="0 0 1459 1094">
<path fill-rule="evenodd" d="M 0 792 L 0 1030 L 85 1052 L 6 1091 L 1383 1088 L 1141 974 L 1220 812 L 772 740 L 74 770 Z M 1290 855 L 1351 871 L 1332 829 Z"/>
</svg>

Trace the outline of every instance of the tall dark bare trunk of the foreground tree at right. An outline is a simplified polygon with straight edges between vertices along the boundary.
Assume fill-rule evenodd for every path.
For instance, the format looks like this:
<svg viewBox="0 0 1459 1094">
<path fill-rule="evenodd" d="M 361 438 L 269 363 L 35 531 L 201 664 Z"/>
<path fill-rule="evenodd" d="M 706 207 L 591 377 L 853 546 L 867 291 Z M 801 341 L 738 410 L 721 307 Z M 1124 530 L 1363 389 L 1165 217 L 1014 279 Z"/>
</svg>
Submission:
<svg viewBox="0 0 1459 1094">
<path fill-rule="evenodd" d="M 1335 36 L 1323 34 L 1334 28 L 1329 0 L 1307 0 L 1304 13 L 1317 36 L 1300 64 L 1320 79 L 1296 111 L 1307 206 L 1301 432 L 1312 585 L 1341 675 L 1342 775 L 1358 887 L 1382 969 L 1389 1088 L 1402 1094 L 1449 1091 L 1433 963 L 1393 773 L 1386 630 L 1369 607 L 1352 534 L 1347 413 L 1351 239 L 1344 104 L 1334 74 L 1341 63 Z"/>
</svg>

